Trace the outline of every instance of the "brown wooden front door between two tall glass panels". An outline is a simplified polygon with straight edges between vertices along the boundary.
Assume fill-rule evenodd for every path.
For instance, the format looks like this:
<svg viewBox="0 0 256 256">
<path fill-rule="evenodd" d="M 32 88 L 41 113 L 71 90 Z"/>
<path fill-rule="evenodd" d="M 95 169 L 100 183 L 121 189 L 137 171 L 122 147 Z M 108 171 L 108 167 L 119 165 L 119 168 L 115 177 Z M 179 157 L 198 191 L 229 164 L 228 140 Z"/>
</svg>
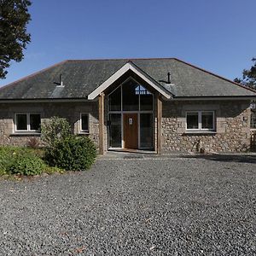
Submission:
<svg viewBox="0 0 256 256">
<path fill-rule="evenodd" d="M 137 149 L 137 113 L 124 113 L 125 148 Z"/>
</svg>

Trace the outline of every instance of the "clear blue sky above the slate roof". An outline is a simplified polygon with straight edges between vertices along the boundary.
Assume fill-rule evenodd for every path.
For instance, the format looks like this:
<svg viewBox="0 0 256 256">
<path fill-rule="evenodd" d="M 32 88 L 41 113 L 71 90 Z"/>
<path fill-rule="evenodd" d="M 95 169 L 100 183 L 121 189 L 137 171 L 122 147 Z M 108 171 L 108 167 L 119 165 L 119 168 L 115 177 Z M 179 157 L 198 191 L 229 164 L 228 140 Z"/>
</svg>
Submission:
<svg viewBox="0 0 256 256">
<path fill-rule="evenodd" d="M 33 0 L 9 84 L 67 59 L 177 57 L 227 79 L 256 57 L 255 0 Z"/>
</svg>

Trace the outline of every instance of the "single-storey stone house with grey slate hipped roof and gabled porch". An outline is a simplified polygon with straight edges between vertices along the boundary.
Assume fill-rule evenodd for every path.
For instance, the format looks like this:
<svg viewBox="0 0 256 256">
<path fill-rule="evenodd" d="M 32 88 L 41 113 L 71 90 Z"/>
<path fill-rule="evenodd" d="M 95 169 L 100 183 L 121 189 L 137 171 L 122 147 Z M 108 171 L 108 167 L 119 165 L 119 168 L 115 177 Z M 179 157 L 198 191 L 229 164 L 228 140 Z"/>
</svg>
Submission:
<svg viewBox="0 0 256 256">
<path fill-rule="evenodd" d="M 0 89 L 0 143 L 67 118 L 99 152 L 241 152 L 256 92 L 175 58 L 62 61 Z"/>
</svg>

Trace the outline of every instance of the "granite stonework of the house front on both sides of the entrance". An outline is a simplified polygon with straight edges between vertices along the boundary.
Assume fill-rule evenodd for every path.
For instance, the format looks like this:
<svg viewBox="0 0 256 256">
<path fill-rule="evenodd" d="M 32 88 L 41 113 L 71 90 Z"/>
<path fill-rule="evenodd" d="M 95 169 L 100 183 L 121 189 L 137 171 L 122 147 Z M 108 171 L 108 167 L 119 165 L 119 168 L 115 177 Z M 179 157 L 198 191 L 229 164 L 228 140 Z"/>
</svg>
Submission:
<svg viewBox="0 0 256 256">
<path fill-rule="evenodd" d="M 250 103 L 248 101 L 163 101 L 162 153 L 173 152 L 244 152 L 250 148 Z M 186 111 L 213 110 L 216 131 L 213 133 L 188 133 Z M 40 134 L 15 133 L 15 113 L 41 113 L 42 122 L 52 116 L 67 118 L 73 132 L 89 136 L 98 147 L 98 102 L 41 102 L 0 104 L 0 144 L 25 146 Z M 89 113 L 89 133 L 79 133 L 80 113 Z M 104 151 L 108 148 L 107 106 L 105 106 Z M 154 144 L 157 137 L 157 120 L 154 117 Z"/>
</svg>

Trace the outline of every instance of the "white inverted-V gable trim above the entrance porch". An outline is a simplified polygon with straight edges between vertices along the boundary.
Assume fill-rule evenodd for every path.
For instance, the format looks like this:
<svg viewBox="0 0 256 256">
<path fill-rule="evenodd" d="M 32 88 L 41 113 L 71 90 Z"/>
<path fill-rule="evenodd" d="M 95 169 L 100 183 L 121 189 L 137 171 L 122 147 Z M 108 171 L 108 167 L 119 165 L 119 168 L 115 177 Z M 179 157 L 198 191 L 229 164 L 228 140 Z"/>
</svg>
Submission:
<svg viewBox="0 0 256 256">
<path fill-rule="evenodd" d="M 96 90 L 93 90 L 90 93 L 90 95 L 88 96 L 88 99 L 94 100 L 96 96 L 99 96 L 100 93 L 102 93 L 102 91 L 106 90 L 108 86 L 113 84 L 114 81 L 119 79 L 123 74 L 125 74 L 129 70 L 131 70 L 133 73 L 136 73 L 141 79 L 143 79 L 146 83 L 152 86 L 154 90 L 157 90 L 158 92 L 160 92 L 162 96 L 165 96 L 166 99 L 171 99 L 170 94 L 168 94 L 165 90 L 162 90 L 158 85 L 154 84 L 143 73 L 139 72 L 136 67 L 131 65 L 131 63 L 126 63 L 125 66 L 121 67 L 116 73 L 113 73 L 113 75 L 109 79 L 107 79 L 104 83 L 102 83 L 99 87 L 97 87 Z"/>
</svg>

